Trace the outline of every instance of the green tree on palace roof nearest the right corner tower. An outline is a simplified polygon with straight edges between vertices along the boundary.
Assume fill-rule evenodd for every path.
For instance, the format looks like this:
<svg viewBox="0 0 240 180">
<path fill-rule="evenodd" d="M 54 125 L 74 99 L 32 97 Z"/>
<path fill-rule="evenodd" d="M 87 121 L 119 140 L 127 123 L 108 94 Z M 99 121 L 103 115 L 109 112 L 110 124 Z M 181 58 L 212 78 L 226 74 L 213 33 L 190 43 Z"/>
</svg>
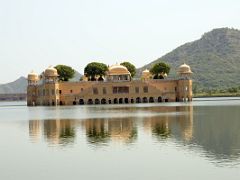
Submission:
<svg viewBox="0 0 240 180">
<path fill-rule="evenodd" d="M 169 74 L 170 66 L 164 62 L 154 64 L 150 69 L 154 79 L 164 79 L 164 74 Z"/>
</svg>

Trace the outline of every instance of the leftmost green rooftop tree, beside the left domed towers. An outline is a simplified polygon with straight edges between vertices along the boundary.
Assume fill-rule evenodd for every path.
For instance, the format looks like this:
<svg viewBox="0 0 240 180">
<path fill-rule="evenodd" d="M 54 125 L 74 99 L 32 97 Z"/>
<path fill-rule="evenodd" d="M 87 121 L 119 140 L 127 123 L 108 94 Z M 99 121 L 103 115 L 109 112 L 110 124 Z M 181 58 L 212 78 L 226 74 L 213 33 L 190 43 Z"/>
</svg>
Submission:
<svg viewBox="0 0 240 180">
<path fill-rule="evenodd" d="M 59 79 L 61 81 L 68 81 L 69 79 L 73 78 L 74 76 L 74 69 L 70 66 L 66 65 L 57 65 L 55 68 L 58 71 Z"/>
</svg>

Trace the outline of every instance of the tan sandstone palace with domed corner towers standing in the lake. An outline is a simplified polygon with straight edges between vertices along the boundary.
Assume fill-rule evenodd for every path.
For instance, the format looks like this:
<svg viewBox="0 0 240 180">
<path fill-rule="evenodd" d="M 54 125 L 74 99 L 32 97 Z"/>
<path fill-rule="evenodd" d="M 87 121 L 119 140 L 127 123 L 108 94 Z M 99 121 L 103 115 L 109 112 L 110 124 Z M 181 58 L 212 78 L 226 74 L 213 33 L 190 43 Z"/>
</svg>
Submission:
<svg viewBox="0 0 240 180">
<path fill-rule="evenodd" d="M 78 82 L 58 80 L 57 70 L 47 68 L 41 78 L 28 74 L 27 105 L 58 106 L 88 104 L 130 104 L 192 101 L 192 72 L 185 63 L 176 79 L 152 79 L 148 70 L 133 80 L 122 65 L 108 68 L 104 81 Z"/>
</svg>

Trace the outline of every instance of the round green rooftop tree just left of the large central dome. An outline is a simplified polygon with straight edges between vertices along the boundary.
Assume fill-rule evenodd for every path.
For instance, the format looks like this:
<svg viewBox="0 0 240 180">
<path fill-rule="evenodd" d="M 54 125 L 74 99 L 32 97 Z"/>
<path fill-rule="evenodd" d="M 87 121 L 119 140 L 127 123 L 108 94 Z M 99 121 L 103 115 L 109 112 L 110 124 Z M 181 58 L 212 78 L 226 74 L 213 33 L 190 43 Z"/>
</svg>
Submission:
<svg viewBox="0 0 240 180">
<path fill-rule="evenodd" d="M 84 74 L 91 80 L 95 81 L 96 76 L 100 76 L 100 80 L 102 76 L 105 75 L 108 67 L 106 64 L 99 63 L 99 62 L 91 62 L 84 68 Z"/>
</svg>

